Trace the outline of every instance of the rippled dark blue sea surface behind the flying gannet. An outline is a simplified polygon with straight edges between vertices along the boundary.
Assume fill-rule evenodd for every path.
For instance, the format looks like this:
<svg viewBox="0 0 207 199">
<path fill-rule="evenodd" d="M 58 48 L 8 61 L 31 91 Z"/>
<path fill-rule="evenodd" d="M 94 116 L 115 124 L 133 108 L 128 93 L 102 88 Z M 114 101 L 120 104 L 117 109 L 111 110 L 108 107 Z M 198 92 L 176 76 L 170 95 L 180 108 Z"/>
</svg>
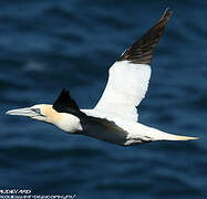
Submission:
<svg viewBox="0 0 207 199">
<path fill-rule="evenodd" d="M 200 137 L 120 147 L 4 112 L 66 87 L 93 108 L 107 70 L 169 7 L 139 122 Z M 207 198 L 207 1 L 0 1 L 0 189 L 80 199 Z"/>
</svg>

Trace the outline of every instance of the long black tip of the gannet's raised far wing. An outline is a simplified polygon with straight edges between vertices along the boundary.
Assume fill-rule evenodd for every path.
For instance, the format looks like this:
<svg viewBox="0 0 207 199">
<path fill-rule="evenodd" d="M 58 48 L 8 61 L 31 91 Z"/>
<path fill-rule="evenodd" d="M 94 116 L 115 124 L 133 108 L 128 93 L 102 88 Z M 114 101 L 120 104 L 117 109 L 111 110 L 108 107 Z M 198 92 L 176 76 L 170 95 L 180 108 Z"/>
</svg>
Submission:
<svg viewBox="0 0 207 199">
<path fill-rule="evenodd" d="M 173 11 L 167 8 L 159 21 L 141 36 L 131 48 L 128 48 L 118 61 L 127 60 L 134 64 L 151 64 L 153 52 L 155 51 L 165 27 L 169 21 Z"/>
</svg>

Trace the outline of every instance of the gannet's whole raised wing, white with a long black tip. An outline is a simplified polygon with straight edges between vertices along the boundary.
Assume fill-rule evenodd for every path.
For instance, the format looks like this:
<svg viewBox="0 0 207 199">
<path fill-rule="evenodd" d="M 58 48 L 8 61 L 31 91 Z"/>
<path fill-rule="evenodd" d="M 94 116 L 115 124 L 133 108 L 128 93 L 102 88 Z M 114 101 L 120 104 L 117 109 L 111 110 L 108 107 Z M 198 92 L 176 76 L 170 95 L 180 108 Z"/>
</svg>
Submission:
<svg viewBox="0 0 207 199">
<path fill-rule="evenodd" d="M 148 87 L 153 52 L 170 15 L 172 12 L 166 9 L 161 20 L 111 66 L 107 85 L 95 111 L 137 121 L 136 106 Z"/>
</svg>

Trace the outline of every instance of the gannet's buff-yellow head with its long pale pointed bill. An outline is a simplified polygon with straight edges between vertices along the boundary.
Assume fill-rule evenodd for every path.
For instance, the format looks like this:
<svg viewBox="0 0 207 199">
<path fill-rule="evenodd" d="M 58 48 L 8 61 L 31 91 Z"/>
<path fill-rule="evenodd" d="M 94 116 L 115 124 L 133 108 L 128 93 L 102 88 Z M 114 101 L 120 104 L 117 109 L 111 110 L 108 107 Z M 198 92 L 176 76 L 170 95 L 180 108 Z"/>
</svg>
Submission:
<svg viewBox="0 0 207 199">
<path fill-rule="evenodd" d="M 52 123 L 54 117 L 58 115 L 56 111 L 53 109 L 52 105 L 49 104 L 38 104 L 31 107 L 11 109 L 6 114 L 25 116 L 46 123 Z"/>
</svg>

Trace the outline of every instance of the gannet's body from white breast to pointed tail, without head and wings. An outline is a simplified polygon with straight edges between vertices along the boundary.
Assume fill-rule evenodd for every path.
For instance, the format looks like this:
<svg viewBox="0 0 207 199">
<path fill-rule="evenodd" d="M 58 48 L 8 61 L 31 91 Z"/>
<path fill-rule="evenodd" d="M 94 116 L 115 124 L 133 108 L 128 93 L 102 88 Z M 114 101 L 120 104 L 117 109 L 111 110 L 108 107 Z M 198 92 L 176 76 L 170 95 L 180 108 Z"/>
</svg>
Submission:
<svg viewBox="0 0 207 199">
<path fill-rule="evenodd" d="M 81 134 L 96 139 L 116 145 L 131 146 L 142 143 L 155 140 L 187 140 L 195 137 L 177 136 L 167 134 L 153 127 L 136 123 L 134 121 L 114 117 L 113 122 L 108 122 L 107 117 L 94 109 L 81 109 L 87 116 L 82 122 L 70 114 L 64 117 L 64 124 L 59 125 L 59 128 L 66 133 Z M 96 121 L 96 118 L 103 118 Z M 105 119 L 106 118 L 106 119 Z M 105 119 L 105 121 L 104 121 Z M 69 122 L 70 121 L 70 122 Z M 63 121 L 62 121 L 63 122 Z"/>
</svg>

